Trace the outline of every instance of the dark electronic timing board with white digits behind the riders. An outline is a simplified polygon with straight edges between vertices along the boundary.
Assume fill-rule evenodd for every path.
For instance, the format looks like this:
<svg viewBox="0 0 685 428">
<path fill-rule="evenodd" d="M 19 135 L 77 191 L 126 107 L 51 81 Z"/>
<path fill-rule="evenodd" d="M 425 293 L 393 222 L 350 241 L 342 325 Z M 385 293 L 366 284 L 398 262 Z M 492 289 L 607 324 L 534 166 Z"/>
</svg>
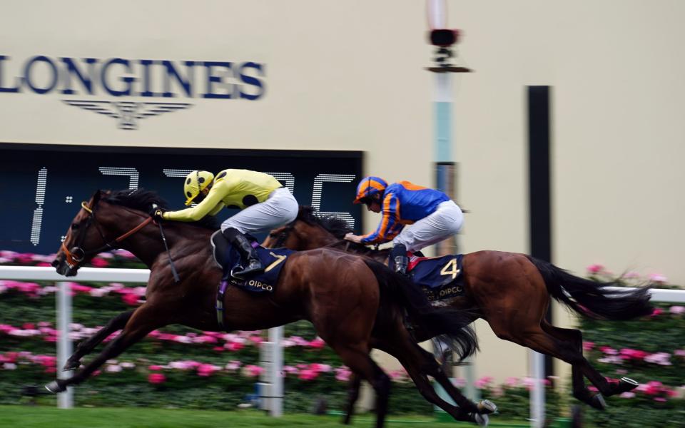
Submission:
<svg viewBox="0 0 685 428">
<path fill-rule="evenodd" d="M 55 253 L 82 200 L 93 192 L 155 190 L 174 210 L 186 208 L 191 170 L 270 173 L 300 205 L 345 219 L 361 230 L 352 205 L 362 173 L 359 151 L 270 151 L 0 144 L 0 250 Z M 237 210 L 222 210 L 223 220 Z M 261 238 L 261 237 L 260 237 Z"/>
</svg>

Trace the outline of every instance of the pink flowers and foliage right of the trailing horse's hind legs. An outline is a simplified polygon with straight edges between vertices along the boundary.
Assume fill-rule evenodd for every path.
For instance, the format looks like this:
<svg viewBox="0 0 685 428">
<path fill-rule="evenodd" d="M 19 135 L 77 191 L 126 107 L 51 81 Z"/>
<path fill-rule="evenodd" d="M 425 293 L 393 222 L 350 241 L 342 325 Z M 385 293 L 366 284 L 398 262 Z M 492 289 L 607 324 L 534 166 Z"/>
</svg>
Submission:
<svg viewBox="0 0 685 428">
<path fill-rule="evenodd" d="M 588 267 L 589 277 L 610 280 L 602 265 Z M 661 274 L 641 278 L 628 272 L 621 285 L 651 282 L 677 288 Z M 586 409 L 586 419 L 599 427 L 684 427 L 685 305 L 655 302 L 654 312 L 639 321 L 579 320 L 584 355 L 610 379 L 631 377 L 640 383 L 609 400 L 605 412 Z M 593 387 L 590 389 L 596 390 Z"/>
</svg>

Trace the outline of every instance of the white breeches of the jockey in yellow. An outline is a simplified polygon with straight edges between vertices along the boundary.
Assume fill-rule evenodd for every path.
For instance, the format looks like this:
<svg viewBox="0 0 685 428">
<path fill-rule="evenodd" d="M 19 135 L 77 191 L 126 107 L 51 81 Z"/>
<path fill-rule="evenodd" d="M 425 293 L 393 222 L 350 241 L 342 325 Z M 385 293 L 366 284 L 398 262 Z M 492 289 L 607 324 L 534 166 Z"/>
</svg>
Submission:
<svg viewBox="0 0 685 428">
<path fill-rule="evenodd" d="M 264 202 L 250 205 L 227 218 L 221 223 L 221 231 L 236 228 L 240 233 L 260 233 L 279 228 L 295 220 L 299 208 L 290 190 L 278 188 Z"/>
</svg>

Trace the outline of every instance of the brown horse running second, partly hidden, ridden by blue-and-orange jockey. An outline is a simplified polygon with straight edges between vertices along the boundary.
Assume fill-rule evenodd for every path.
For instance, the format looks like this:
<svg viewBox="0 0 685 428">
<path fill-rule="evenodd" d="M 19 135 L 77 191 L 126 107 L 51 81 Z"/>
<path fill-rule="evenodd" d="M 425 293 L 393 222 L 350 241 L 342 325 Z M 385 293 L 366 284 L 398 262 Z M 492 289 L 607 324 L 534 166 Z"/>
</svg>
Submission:
<svg viewBox="0 0 685 428">
<path fill-rule="evenodd" d="M 292 250 L 339 248 L 383 263 L 387 261 L 389 250 L 372 250 L 342 240 L 345 233 L 351 231 L 343 220 L 318 218 L 312 208 L 302 207 L 293 223 L 272 230 L 263 245 Z M 529 255 L 501 251 L 464 255 L 463 275 L 465 295 L 442 303 L 466 310 L 472 320 L 486 320 L 501 339 L 569 363 L 573 395 L 580 401 L 604 409 L 603 396 L 620 394 L 638 386 L 627 377 L 618 382 L 607 381 L 583 357 L 580 330 L 555 327 L 544 319 L 544 315 L 550 295 L 587 317 L 630 320 L 649 315 L 652 307 L 648 287 L 615 291 L 607 288 L 614 285 L 612 282 L 586 280 Z M 583 377 L 597 387 L 597 394 L 589 391 Z"/>
</svg>

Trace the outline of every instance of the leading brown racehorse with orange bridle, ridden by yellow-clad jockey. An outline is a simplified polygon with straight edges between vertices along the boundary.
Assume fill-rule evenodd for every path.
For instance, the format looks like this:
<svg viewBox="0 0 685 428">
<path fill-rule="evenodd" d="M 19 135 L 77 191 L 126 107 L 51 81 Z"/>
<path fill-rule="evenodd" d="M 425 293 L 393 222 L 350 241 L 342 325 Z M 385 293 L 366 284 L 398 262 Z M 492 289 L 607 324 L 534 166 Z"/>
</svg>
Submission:
<svg viewBox="0 0 685 428">
<path fill-rule="evenodd" d="M 73 377 L 47 384 L 49 391 L 63 392 L 68 385 L 80 384 L 106 360 L 166 325 L 210 331 L 262 330 L 309 320 L 342 362 L 375 389 L 377 427 L 382 427 L 387 413 L 390 378 L 369 357 L 372 337 L 380 337 L 375 342 L 400 360 L 430 402 L 455 419 L 487 423 L 492 407 L 463 397 L 403 325 L 406 311 L 420 329 L 452 335 L 467 344 L 466 352 L 472 352 L 475 336 L 472 330 L 462 329 L 468 320 L 460 312 L 435 310 L 427 300 L 417 300 L 405 290 L 410 288 L 403 284 L 405 279 L 380 263 L 322 248 L 288 255 L 275 291 L 268 296 L 229 287 L 223 299 L 222 328 L 215 311 L 222 271 L 213 261 L 209 245 L 218 224 L 207 220 L 165 222 L 166 228 L 158 229 L 148 214 L 153 204 L 168 207 L 156 193 L 147 190 L 98 190 L 81 204 L 73 218 L 52 263 L 61 275 L 76 275 L 83 263 L 113 248 L 130 251 L 151 273 L 145 302 L 136 310 L 113 317 L 96 335 L 79 344 L 64 370 L 80 367 L 81 358 L 112 332 L 122 330 L 121 334 Z M 443 385 L 459 407 L 437 396 L 427 379 L 429 375 Z"/>
</svg>

